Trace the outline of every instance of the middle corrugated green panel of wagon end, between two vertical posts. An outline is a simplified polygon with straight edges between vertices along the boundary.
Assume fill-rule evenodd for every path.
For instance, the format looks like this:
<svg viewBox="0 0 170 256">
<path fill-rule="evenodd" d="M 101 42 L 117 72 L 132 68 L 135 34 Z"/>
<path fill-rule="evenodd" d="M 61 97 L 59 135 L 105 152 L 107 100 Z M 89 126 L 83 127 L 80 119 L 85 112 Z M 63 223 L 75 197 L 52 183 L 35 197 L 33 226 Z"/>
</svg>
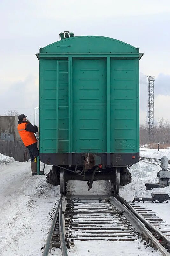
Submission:
<svg viewBox="0 0 170 256">
<path fill-rule="evenodd" d="M 73 60 L 73 152 L 106 152 L 106 58 Z"/>
</svg>

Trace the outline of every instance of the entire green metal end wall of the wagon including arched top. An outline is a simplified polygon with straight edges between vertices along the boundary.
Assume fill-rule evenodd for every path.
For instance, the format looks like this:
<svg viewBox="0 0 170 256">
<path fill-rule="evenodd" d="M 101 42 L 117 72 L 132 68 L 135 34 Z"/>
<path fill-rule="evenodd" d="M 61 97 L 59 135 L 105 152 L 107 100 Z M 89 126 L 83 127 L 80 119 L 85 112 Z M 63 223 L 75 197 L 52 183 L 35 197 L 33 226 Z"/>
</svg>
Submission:
<svg viewBox="0 0 170 256">
<path fill-rule="evenodd" d="M 70 52 L 138 52 L 110 38 L 61 41 L 66 40 L 74 40 L 67 46 Z M 65 47 L 56 48 L 57 44 L 45 52 L 62 53 Z M 72 55 L 40 57 L 40 152 L 138 152 L 138 58 Z"/>
</svg>

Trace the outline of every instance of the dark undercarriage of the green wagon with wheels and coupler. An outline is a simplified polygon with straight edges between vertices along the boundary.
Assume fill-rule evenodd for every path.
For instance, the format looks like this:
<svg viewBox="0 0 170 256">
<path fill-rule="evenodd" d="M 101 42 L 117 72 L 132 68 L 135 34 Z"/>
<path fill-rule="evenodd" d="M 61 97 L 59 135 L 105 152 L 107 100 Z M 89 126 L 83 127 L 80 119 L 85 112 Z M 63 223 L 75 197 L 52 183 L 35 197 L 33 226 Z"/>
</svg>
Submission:
<svg viewBox="0 0 170 256">
<path fill-rule="evenodd" d="M 46 181 L 54 186 L 60 185 L 60 192 L 66 194 L 69 180 L 87 181 L 88 190 L 92 188 L 95 180 L 110 180 L 111 192 L 119 193 L 119 186 L 131 182 L 131 173 L 127 166 L 107 166 L 101 163 L 99 156 L 91 153 L 85 154 L 83 165 L 52 165 L 52 170 L 47 173 Z"/>
</svg>

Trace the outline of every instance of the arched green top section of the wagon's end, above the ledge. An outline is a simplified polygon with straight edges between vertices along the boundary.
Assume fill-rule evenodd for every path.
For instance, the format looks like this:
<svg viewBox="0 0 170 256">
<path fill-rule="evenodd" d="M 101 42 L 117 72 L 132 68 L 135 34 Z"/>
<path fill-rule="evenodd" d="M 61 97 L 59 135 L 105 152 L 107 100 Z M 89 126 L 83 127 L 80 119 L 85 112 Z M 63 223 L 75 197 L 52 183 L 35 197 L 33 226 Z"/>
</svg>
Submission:
<svg viewBox="0 0 170 256">
<path fill-rule="evenodd" d="M 40 48 L 40 53 L 139 53 L 139 49 L 104 36 L 74 36 Z"/>
</svg>

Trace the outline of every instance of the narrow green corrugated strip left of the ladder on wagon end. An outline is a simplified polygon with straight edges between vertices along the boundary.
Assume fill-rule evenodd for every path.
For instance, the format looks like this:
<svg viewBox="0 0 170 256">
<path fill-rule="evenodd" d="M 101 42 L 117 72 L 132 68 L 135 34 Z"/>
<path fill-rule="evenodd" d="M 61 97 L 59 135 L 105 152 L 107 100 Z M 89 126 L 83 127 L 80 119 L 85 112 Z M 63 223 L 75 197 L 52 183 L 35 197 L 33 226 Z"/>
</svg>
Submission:
<svg viewBox="0 0 170 256">
<path fill-rule="evenodd" d="M 42 148 L 46 153 L 56 152 L 56 60 L 43 60 L 43 98 L 40 99 L 40 109 L 43 108 L 43 126 L 40 126 L 40 137 L 43 138 Z M 41 92 L 41 91 L 40 91 Z"/>
</svg>

